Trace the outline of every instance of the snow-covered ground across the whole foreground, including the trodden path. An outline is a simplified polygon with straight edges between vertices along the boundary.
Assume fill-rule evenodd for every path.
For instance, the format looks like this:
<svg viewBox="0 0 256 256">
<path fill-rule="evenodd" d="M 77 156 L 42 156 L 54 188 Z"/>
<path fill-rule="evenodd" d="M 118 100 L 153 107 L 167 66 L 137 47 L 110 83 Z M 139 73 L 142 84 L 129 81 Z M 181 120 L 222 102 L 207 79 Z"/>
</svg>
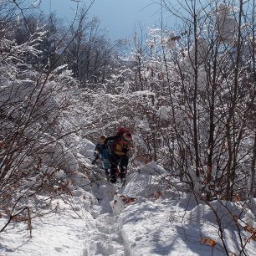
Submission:
<svg viewBox="0 0 256 256">
<path fill-rule="evenodd" d="M 227 255 L 212 208 L 218 209 L 225 225 L 228 252 L 238 255 L 233 214 L 242 206 L 218 201 L 197 205 L 192 195 L 161 184 L 150 172 L 152 167 L 156 169 L 156 163 L 130 173 L 119 190 L 99 174 L 92 187 L 53 202 L 58 205 L 54 212 L 32 220 L 32 238 L 27 224 L 9 225 L 0 234 L 0 255 Z M 158 173 L 163 171 L 158 168 Z M 0 218 L 1 226 L 5 221 Z M 242 238 L 245 235 L 244 231 Z M 217 244 L 211 247 L 210 239 Z M 255 249 L 251 241 L 246 255 L 256 255 Z"/>
</svg>

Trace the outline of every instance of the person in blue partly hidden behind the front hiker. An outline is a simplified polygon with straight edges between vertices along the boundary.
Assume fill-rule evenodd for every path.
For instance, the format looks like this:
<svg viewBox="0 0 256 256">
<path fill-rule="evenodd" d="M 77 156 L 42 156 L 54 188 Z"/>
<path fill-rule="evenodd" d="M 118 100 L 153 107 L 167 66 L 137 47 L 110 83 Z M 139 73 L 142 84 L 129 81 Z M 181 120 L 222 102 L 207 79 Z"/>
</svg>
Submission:
<svg viewBox="0 0 256 256">
<path fill-rule="evenodd" d="M 95 165 L 96 161 L 98 161 L 98 159 L 101 159 L 102 163 L 103 163 L 103 168 L 105 169 L 105 175 L 109 176 L 109 169 L 110 169 L 110 153 L 108 151 L 108 149 L 103 146 L 104 142 L 105 142 L 106 136 L 101 135 L 100 136 L 100 142 L 96 145 L 95 147 L 95 159 L 91 162 L 93 165 Z"/>
</svg>

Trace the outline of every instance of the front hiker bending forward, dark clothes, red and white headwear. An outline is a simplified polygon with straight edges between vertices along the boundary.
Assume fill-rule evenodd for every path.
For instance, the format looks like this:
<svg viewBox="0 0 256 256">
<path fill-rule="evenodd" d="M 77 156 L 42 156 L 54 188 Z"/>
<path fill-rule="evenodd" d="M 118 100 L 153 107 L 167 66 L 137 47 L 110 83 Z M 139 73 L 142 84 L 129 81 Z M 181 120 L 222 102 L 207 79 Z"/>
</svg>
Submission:
<svg viewBox="0 0 256 256">
<path fill-rule="evenodd" d="M 121 127 L 115 136 L 110 136 L 105 139 L 104 146 L 106 146 L 110 152 L 110 182 L 116 182 L 118 166 L 120 166 L 120 180 L 121 182 L 125 182 L 129 162 L 128 152 L 131 147 L 133 147 L 131 132 Z"/>
</svg>

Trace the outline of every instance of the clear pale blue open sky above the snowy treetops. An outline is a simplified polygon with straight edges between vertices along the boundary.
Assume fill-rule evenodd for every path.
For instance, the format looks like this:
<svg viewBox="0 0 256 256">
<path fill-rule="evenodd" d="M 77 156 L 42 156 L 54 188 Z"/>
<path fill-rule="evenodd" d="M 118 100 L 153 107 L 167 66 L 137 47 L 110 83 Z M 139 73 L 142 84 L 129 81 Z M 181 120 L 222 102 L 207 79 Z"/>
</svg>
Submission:
<svg viewBox="0 0 256 256">
<path fill-rule="evenodd" d="M 155 2 L 155 3 L 154 3 Z M 135 31 L 143 30 L 160 23 L 160 6 L 153 0 L 95 0 L 90 16 L 100 18 L 102 28 L 108 28 L 110 38 L 131 38 Z M 81 0 L 80 6 L 89 5 L 90 0 Z M 56 12 L 60 18 L 70 20 L 74 17 L 76 3 L 72 0 L 42 0 L 44 13 Z M 174 18 L 166 15 L 168 23 Z M 169 24 L 171 27 L 173 24 Z"/>
</svg>

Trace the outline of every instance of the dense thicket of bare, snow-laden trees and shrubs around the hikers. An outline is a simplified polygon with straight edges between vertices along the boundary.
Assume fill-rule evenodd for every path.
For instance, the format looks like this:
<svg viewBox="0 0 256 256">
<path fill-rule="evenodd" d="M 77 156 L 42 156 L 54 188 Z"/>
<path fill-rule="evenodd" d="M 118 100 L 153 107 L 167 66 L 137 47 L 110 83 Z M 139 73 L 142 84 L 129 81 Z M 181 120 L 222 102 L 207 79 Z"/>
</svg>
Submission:
<svg viewBox="0 0 256 256">
<path fill-rule="evenodd" d="M 86 9 L 65 28 L 0 3 L 0 211 L 10 220 L 77 182 L 77 141 L 120 125 L 134 134 L 131 169 L 157 161 L 163 181 L 178 187 L 178 177 L 207 201 L 255 197 L 254 1 L 186 2 L 180 29 L 135 35 L 126 57 Z"/>
</svg>

